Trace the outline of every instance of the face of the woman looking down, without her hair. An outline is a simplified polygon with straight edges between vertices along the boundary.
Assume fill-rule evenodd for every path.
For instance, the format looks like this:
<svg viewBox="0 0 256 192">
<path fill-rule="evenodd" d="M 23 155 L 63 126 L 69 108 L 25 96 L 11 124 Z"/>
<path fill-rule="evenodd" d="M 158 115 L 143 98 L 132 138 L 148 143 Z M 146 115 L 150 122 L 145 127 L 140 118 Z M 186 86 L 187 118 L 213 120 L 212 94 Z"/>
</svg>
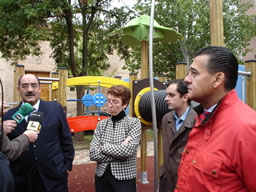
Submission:
<svg viewBox="0 0 256 192">
<path fill-rule="evenodd" d="M 108 112 L 112 116 L 118 115 L 127 106 L 127 104 L 125 105 L 122 104 L 121 97 L 116 97 L 111 94 L 108 94 L 107 101 L 108 101 Z"/>
</svg>

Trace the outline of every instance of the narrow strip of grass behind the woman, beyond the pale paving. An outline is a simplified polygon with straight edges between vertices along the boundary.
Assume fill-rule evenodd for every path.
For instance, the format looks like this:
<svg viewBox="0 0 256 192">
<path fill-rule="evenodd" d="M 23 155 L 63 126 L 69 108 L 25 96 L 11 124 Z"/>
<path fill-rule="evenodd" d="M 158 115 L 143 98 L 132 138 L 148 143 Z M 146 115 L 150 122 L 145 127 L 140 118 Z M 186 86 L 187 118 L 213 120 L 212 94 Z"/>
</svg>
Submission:
<svg viewBox="0 0 256 192">
<path fill-rule="evenodd" d="M 147 141 L 153 141 L 154 140 L 154 133 L 153 130 L 147 130 Z M 89 149 L 90 143 L 92 141 L 93 135 L 85 135 L 84 141 L 74 141 L 74 147 L 75 150 L 81 150 L 81 149 Z"/>
</svg>

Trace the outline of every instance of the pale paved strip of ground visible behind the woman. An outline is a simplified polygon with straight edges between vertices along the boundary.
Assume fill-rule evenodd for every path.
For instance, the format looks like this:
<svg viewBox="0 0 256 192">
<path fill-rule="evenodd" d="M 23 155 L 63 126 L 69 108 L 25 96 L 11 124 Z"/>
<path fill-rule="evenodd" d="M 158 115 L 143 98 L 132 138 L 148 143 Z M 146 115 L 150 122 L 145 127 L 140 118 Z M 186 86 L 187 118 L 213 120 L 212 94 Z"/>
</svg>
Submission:
<svg viewBox="0 0 256 192">
<path fill-rule="evenodd" d="M 154 155 L 154 144 L 152 141 L 148 142 L 147 155 L 148 156 Z M 137 150 L 137 157 L 140 157 L 140 146 L 138 147 L 138 150 Z M 89 159 L 89 149 L 76 149 L 75 159 L 73 161 L 74 165 L 81 165 L 81 164 L 87 164 L 92 162 L 93 161 L 90 161 Z"/>
</svg>

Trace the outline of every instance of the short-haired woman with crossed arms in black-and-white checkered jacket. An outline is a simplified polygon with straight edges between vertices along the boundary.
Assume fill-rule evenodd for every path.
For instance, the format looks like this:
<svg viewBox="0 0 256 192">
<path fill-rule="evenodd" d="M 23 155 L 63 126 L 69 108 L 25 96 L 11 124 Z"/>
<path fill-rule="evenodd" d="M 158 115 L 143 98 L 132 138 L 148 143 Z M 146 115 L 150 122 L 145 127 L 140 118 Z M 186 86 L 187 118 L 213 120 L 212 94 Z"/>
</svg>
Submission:
<svg viewBox="0 0 256 192">
<path fill-rule="evenodd" d="M 125 114 L 131 98 L 122 85 L 108 89 L 111 118 L 99 121 L 90 145 L 90 159 L 97 161 L 96 192 L 136 192 L 136 154 L 141 123 Z"/>
</svg>

